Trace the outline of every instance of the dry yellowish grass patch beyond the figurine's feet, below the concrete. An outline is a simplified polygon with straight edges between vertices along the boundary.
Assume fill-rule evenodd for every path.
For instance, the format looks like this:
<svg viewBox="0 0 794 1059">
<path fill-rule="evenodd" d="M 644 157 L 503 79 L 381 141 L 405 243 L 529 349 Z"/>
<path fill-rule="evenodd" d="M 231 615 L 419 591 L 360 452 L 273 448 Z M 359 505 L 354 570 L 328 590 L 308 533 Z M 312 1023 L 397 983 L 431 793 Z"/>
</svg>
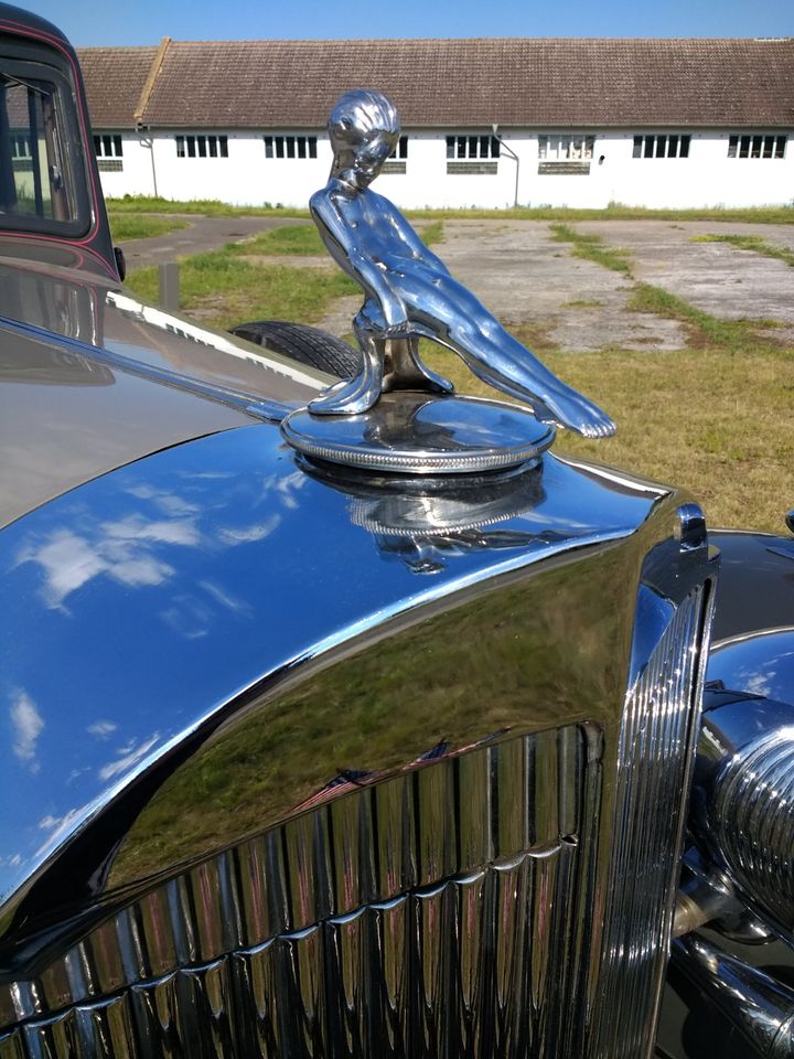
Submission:
<svg viewBox="0 0 794 1059">
<path fill-rule="evenodd" d="M 757 340 L 653 355 L 565 353 L 537 328 L 511 330 L 618 424 L 616 436 L 600 441 L 560 431 L 556 451 L 684 486 L 712 526 L 785 533 L 794 496 L 794 350 Z M 453 354 L 429 344 L 423 353 L 461 393 L 498 396 Z"/>
</svg>

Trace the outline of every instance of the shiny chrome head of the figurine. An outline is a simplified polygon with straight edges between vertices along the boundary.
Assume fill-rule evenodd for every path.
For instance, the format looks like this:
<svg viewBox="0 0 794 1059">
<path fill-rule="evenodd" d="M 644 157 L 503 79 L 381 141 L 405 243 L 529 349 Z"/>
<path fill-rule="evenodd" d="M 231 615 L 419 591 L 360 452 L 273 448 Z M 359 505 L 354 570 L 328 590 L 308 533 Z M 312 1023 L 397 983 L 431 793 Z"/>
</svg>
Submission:
<svg viewBox="0 0 794 1059">
<path fill-rule="evenodd" d="M 336 100 L 328 129 L 334 152 L 333 175 L 364 189 L 397 146 L 399 115 L 382 92 L 357 88 Z"/>
</svg>

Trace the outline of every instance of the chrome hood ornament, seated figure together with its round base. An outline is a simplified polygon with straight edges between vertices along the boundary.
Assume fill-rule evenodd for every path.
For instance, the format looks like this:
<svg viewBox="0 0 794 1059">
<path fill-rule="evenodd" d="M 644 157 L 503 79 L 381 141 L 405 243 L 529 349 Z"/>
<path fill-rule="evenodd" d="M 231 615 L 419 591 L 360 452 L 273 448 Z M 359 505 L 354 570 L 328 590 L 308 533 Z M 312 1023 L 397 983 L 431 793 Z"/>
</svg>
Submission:
<svg viewBox="0 0 794 1059">
<path fill-rule="evenodd" d="M 289 416 L 282 427 L 287 440 L 307 456 L 332 462 L 460 473 L 536 459 L 554 440 L 548 424 L 591 438 L 614 434 L 612 420 L 514 339 L 450 275 L 394 203 L 371 190 L 399 139 L 391 100 L 368 89 L 345 93 L 328 128 L 334 160 L 328 184 L 312 195 L 311 213 L 333 259 L 364 291 L 353 321 L 363 367 Z M 452 384 L 422 363 L 420 338 L 452 350 L 484 383 L 526 402 L 535 415 L 454 396 Z M 396 431 L 396 398 L 378 399 L 400 389 L 418 391 L 425 399 L 422 416 L 406 414 L 404 429 Z M 343 427 L 337 417 L 345 417 Z M 433 429 L 414 431 L 420 421 Z"/>
</svg>

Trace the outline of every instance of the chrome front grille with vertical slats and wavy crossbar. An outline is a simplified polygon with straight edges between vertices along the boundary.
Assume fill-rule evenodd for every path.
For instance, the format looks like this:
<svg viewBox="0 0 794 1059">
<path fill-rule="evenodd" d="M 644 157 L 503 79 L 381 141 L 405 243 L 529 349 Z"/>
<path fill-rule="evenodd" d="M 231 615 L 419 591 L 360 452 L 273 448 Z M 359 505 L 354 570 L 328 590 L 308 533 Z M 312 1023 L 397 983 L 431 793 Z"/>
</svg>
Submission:
<svg viewBox="0 0 794 1059">
<path fill-rule="evenodd" d="M 171 879 L 6 992 L 0 1057 L 581 1051 L 600 744 L 496 739 Z"/>
</svg>

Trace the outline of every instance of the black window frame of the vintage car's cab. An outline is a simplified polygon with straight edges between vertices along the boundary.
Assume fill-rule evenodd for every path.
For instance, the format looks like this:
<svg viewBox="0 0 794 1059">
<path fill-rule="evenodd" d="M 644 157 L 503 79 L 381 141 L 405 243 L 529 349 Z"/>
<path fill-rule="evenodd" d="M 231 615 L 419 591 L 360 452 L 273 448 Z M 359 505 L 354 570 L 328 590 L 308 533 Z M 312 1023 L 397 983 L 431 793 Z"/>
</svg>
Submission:
<svg viewBox="0 0 794 1059">
<path fill-rule="evenodd" d="M 77 109 L 78 95 L 67 63 L 46 44 L 20 40 L 0 31 L 0 71 L 21 84 L 44 82 L 52 85 L 58 159 L 72 214 L 69 220 L 56 220 L 35 214 L 0 213 L 0 232 L 62 239 L 88 235 L 95 222 L 95 211 L 89 192 L 87 148 Z M 6 150 L 7 154 L 0 143 L 0 164 L 10 161 L 10 138 Z"/>
</svg>

